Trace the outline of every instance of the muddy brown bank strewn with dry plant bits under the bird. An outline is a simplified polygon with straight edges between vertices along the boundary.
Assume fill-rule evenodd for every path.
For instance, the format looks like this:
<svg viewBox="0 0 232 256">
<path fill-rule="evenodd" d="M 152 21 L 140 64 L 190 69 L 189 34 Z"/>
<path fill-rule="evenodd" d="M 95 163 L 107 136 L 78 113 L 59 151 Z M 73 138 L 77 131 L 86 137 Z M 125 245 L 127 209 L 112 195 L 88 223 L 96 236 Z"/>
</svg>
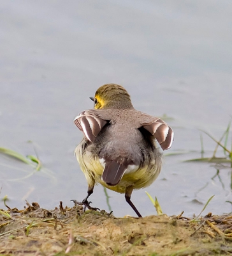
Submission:
<svg viewBox="0 0 232 256">
<path fill-rule="evenodd" d="M 1 210 L 0 255 L 231 255 L 232 216 L 115 218 L 82 206 Z"/>
</svg>

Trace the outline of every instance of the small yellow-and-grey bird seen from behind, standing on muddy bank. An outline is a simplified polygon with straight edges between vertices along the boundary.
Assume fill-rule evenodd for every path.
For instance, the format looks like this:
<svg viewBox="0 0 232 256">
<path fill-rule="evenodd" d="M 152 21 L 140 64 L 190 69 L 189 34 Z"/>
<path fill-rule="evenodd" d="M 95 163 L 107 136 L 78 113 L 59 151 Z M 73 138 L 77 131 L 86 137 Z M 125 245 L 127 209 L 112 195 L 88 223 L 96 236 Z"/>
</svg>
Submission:
<svg viewBox="0 0 232 256">
<path fill-rule="evenodd" d="M 95 184 L 124 193 L 126 202 L 141 217 L 131 202 L 133 189 L 150 186 L 161 172 L 163 150 L 171 147 L 173 130 L 160 118 L 134 109 L 130 95 L 118 84 L 98 88 L 94 109 L 75 117 L 83 140 L 75 154 L 88 183 L 87 196 Z"/>
</svg>

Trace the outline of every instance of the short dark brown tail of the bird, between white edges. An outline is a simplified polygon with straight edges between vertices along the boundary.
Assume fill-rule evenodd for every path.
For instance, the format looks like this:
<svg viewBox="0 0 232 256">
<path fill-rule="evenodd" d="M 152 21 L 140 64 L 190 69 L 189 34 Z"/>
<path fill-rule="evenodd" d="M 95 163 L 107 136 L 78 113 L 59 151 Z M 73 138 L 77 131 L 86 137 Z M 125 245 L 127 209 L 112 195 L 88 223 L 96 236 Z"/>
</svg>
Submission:
<svg viewBox="0 0 232 256">
<path fill-rule="evenodd" d="M 115 186 L 119 184 L 126 168 L 127 166 L 117 163 L 116 161 L 106 161 L 101 179 L 105 181 L 107 185 Z"/>
</svg>

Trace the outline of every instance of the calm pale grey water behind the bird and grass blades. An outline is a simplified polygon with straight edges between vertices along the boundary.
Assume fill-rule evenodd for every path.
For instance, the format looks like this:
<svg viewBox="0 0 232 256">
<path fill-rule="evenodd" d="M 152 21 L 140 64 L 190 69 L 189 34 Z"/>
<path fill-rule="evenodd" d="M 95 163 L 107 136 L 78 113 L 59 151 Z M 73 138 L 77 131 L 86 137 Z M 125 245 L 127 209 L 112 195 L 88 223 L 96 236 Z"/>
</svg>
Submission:
<svg viewBox="0 0 232 256">
<path fill-rule="evenodd" d="M 82 133 L 73 118 L 92 108 L 96 89 L 119 83 L 134 107 L 166 114 L 175 131 L 159 178 L 131 199 L 142 215 L 231 211 L 231 168 L 184 163 L 200 157 L 199 129 L 220 138 L 232 115 L 231 1 L 1 1 L 0 147 L 36 150 L 43 169 L 0 155 L 1 198 L 52 209 L 82 200 L 87 183 L 73 151 Z M 29 143 L 28 141 L 33 141 Z M 203 134 L 205 156 L 215 143 Z M 217 156 L 223 156 L 219 152 Z M 115 216 L 132 214 L 124 195 L 108 191 Z M 93 206 L 108 209 L 103 188 Z M 3 202 L 0 207 L 4 207 Z"/>
</svg>

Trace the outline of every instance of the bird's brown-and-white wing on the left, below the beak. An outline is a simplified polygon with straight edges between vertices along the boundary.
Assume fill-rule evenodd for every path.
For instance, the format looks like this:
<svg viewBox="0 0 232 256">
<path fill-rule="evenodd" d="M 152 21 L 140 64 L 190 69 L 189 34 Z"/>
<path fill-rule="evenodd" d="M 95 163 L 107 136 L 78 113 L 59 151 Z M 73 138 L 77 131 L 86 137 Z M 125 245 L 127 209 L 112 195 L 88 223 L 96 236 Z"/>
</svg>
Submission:
<svg viewBox="0 0 232 256">
<path fill-rule="evenodd" d="M 74 123 L 85 137 L 94 143 L 101 129 L 107 124 L 107 120 L 103 120 L 92 111 L 85 110 L 75 117 Z"/>
</svg>

